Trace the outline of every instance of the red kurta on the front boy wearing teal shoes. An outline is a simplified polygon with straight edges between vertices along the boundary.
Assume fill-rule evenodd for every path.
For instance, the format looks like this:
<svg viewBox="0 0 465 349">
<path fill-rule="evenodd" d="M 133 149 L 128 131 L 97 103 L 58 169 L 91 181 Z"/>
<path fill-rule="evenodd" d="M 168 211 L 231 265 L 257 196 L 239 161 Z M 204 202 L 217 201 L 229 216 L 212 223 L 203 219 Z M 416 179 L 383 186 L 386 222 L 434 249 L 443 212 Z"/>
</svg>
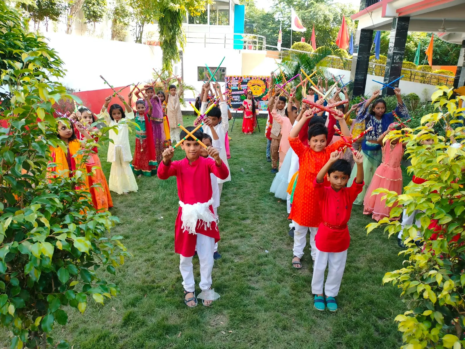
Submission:
<svg viewBox="0 0 465 349">
<path fill-rule="evenodd" d="M 315 178 L 313 186 L 317 198 L 316 204 L 321 208 L 323 219 L 315 236 L 317 248 L 323 252 L 345 251 L 350 244 L 347 222 L 352 212 L 352 203 L 362 192 L 364 183 L 357 184 L 354 180 L 352 186 L 335 191 L 331 186 L 325 187 L 324 183 L 317 183 Z M 328 227 L 324 222 L 339 226 L 340 229 Z"/>
</svg>

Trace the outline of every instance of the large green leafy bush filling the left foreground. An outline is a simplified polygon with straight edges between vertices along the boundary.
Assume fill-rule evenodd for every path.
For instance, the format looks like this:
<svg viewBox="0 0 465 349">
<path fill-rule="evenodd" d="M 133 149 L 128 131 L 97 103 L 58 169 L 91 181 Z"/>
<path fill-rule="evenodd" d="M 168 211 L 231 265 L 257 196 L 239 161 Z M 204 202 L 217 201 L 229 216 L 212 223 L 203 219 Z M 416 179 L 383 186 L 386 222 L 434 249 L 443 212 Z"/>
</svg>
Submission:
<svg viewBox="0 0 465 349">
<path fill-rule="evenodd" d="M 66 151 L 52 106 L 73 96 L 56 82 L 62 61 L 23 15 L 0 1 L 0 322 L 10 349 L 46 348 L 53 326 L 66 325 L 64 306 L 84 312 L 89 298 L 104 304 L 117 295 L 106 276 L 129 255 L 121 236 L 107 237 L 118 218 L 96 212 L 79 189 L 86 170 L 69 177 L 48 166 L 49 147 Z"/>
</svg>

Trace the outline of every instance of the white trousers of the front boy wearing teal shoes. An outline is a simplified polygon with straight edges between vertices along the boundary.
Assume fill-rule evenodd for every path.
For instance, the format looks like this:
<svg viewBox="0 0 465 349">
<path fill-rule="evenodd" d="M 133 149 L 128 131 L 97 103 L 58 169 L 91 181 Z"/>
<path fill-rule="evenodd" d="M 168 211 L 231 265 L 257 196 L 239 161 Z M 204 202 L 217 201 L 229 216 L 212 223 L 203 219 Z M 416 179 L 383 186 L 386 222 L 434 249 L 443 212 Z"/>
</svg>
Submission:
<svg viewBox="0 0 465 349">
<path fill-rule="evenodd" d="M 341 287 L 342 275 L 344 274 L 347 250 L 342 252 L 322 252 L 317 249 L 315 262 L 313 263 L 312 294 L 323 293 L 323 282 L 325 281 L 325 270 L 328 265 L 328 276 L 326 276 L 325 295 L 335 297 Z"/>
</svg>

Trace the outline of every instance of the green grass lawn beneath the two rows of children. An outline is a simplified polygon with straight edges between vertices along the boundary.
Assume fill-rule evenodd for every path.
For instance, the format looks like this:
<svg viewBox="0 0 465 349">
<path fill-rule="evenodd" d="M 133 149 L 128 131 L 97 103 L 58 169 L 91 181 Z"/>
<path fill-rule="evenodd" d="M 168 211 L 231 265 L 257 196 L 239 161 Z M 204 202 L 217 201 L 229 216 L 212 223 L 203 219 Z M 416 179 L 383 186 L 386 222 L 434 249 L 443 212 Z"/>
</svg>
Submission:
<svg viewBox="0 0 465 349">
<path fill-rule="evenodd" d="M 184 120 L 186 125 L 193 121 Z M 366 236 L 371 217 L 354 207 L 339 310 L 315 310 L 310 253 L 306 248 L 301 270 L 291 267 L 286 202 L 269 193 L 273 175 L 265 156 L 265 119 L 260 119 L 262 133 L 251 136 L 241 133 L 240 121 L 230 142 L 233 181 L 225 184 L 218 211 L 223 257 L 215 262 L 212 287 L 220 300 L 209 308 L 200 302 L 193 309 L 184 305 L 179 255 L 173 247 L 176 179 L 144 177 L 138 179 L 137 193 L 113 195 L 111 212 L 121 224 L 112 234 L 123 235 L 133 254 L 116 276 L 108 275 L 119 284 L 121 295 L 105 307 L 89 300 L 84 315 L 66 309 L 70 322 L 64 331 L 55 327 L 55 338 L 65 336 L 74 349 L 400 346 L 393 319 L 405 306 L 399 290 L 381 282 L 386 271 L 401 267 L 396 240 L 380 231 Z M 183 152 L 177 150 L 176 156 L 183 157 Z M 100 158 L 108 176 L 106 149 Z M 198 268 L 194 258 L 196 282 Z"/>
</svg>

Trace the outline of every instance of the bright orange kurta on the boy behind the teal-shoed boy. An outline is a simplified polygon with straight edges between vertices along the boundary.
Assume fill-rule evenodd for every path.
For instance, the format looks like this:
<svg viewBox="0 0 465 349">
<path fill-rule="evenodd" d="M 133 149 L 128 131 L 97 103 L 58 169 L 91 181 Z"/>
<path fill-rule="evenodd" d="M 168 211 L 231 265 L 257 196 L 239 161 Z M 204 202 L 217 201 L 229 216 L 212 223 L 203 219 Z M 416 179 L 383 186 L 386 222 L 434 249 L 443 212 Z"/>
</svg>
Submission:
<svg viewBox="0 0 465 349">
<path fill-rule="evenodd" d="M 299 156 L 299 177 L 297 177 L 289 219 L 303 227 L 318 227 L 322 220 L 321 208 L 315 200 L 313 181 L 319 170 L 329 160 L 329 155 L 345 143 L 339 140 L 321 152 L 315 152 L 310 147 L 306 147 L 299 137 L 289 137 L 289 143 L 295 154 Z M 326 177 L 324 185 L 329 185 Z"/>
</svg>

